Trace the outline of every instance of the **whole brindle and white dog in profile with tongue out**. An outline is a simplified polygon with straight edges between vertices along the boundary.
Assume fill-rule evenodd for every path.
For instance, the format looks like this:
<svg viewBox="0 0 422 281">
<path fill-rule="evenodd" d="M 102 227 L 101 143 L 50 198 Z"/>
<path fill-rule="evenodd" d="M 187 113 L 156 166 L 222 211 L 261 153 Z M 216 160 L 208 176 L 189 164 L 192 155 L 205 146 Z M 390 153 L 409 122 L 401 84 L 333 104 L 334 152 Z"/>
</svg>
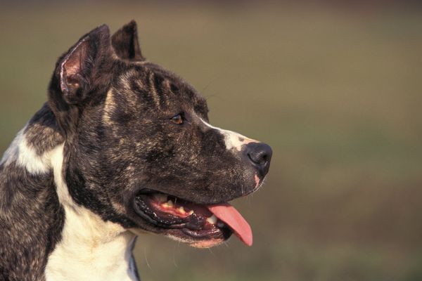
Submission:
<svg viewBox="0 0 422 281">
<path fill-rule="evenodd" d="M 229 203 L 271 148 L 210 125 L 207 103 L 146 60 L 136 22 L 102 25 L 58 58 L 48 101 L 0 164 L 0 280 L 139 280 L 139 233 L 252 244 Z"/>
</svg>

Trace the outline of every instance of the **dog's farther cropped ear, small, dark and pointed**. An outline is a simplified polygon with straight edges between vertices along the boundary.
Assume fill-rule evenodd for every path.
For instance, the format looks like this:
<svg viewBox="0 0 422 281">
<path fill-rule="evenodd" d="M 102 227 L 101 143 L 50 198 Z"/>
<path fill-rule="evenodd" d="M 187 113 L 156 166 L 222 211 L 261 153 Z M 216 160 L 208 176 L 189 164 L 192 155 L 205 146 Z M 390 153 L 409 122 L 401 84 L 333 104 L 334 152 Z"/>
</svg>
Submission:
<svg viewBox="0 0 422 281">
<path fill-rule="evenodd" d="M 139 47 L 138 32 L 134 20 L 113 34 L 111 44 L 116 55 L 122 60 L 145 60 Z"/>
</svg>

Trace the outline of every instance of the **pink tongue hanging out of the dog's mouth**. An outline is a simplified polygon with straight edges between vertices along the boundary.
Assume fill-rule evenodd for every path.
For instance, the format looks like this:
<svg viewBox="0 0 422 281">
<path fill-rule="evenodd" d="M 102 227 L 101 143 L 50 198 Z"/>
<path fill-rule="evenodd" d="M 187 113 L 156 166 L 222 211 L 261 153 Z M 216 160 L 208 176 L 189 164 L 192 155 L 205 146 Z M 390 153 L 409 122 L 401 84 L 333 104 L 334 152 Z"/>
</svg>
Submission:
<svg viewBox="0 0 422 281">
<path fill-rule="evenodd" d="M 245 218 L 231 204 L 207 205 L 207 208 L 224 221 L 243 243 L 252 246 L 252 230 Z"/>
</svg>

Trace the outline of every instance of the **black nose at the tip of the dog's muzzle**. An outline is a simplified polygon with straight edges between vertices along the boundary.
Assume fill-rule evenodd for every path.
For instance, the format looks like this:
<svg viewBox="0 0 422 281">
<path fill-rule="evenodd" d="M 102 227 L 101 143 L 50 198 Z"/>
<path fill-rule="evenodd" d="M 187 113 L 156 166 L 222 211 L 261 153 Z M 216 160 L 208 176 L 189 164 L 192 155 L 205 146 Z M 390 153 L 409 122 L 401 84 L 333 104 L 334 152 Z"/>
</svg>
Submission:
<svg viewBox="0 0 422 281">
<path fill-rule="evenodd" d="M 271 162 L 272 150 L 270 146 L 265 143 L 248 143 L 245 152 L 261 176 L 265 176 L 268 173 L 269 162 Z"/>
</svg>

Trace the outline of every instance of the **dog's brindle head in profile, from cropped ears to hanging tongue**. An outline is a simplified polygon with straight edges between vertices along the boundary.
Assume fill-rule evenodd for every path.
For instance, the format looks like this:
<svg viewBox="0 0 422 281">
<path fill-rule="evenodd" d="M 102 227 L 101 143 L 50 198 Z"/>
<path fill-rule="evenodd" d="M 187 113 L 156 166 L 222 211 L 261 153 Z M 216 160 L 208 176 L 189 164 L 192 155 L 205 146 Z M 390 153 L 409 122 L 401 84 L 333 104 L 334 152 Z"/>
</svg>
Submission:
<svg viewBox="0 0 422 281">
<path fill-rule="evenodd" d="M 63 174 L 77 204 L 197 247 L 232 232 L 252 242 L 226 202 L 260 187 L 271 148 L 208 124 L 205 99 L 143 58 L 135 22 L 113 37 L 98 27 L 63 54 L 49 106 L 65 136 Z"/>
</svg>

